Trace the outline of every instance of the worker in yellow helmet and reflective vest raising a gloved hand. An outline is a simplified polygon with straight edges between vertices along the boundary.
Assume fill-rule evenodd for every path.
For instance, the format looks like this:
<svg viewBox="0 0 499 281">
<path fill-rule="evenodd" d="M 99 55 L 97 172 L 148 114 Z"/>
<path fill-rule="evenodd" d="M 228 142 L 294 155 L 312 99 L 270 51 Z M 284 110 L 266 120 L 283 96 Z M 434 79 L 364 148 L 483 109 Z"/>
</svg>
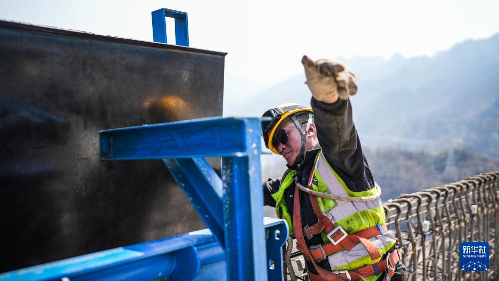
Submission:
<svg viewBox="0 0 499 281">
<path fill-rule="evenodd" d="M 355 75 L 332 60 L 303 56 L 302 63 L 311 108 L 282 104 L 262 116 L 265 146 L 288 168 L 263 183 L 264 203 L 286 220 L 311 281 L 403 280 L 396 238 L 384 224 L 381 191 L 352 120 Z"/>
</svg>

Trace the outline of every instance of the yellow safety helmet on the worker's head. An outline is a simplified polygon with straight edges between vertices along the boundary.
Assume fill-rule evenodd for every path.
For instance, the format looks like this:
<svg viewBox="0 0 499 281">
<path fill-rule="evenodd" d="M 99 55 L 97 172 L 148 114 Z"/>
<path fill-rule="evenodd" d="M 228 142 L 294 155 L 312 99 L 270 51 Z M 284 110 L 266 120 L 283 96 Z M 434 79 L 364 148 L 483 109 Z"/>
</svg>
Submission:
<svg viewBox="0 0 499 281">
<path fill-rule="evenodd" d="M 312 112 L 312 109 L 295 103 L 284 103 L 263 113 L 261 116 L 261 130 L 266 148 L 275 154 L 280 154 L 277 147 L 272 144 L 275 131 L 286 117 L 296 115 L 299 112 Z"/>
</svg>

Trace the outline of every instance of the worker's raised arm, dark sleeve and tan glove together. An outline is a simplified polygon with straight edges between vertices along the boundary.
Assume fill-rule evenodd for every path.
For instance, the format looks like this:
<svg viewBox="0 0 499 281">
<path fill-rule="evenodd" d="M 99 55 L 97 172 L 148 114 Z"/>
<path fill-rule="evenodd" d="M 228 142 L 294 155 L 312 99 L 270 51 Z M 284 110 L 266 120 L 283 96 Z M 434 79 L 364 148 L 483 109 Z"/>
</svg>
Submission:
<svg viewBox="0 0 499 281">
<path fill-rule="evenodd" d="M 352 106 L 348 97 L 357 92 L 355 75 L 346 66 L 331 60 L 312 61 L 303 56 L 306 84 L 312 92 L 311 105 L 314 113 L 317 137 L 322 151 L 330 164 L 354 179 L 367 176 L 367 163 L 360 146 L 352 118 Z M 372 182 L 367 171 L 368 182 Z M 361 184 L 356 189 L 370 188 Z"/>
</svg>

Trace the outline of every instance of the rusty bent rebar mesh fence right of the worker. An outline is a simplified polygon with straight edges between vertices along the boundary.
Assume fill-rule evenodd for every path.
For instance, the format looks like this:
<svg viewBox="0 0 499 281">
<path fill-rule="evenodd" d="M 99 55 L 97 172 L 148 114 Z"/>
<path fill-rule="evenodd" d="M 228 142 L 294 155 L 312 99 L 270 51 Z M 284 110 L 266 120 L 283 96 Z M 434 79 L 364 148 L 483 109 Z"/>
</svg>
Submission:
<svg viewBox="0 0 499 281">
<path fill-rule="evenodd" d="M 497 280 L 499 171 L 425 189 L 385 203 L 407 281 Z M 460 269 L 462 242 L 488 242 L 490 269 Z"/>
</svg>

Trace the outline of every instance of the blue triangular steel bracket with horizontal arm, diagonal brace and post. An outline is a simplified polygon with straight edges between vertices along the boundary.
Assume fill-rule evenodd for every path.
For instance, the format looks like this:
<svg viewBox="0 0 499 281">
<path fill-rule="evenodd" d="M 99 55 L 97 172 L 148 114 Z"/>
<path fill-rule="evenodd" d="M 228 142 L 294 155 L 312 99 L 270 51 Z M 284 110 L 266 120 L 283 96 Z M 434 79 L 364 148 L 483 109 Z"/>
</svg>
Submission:
<svg viewBox="0 0 499 281">
<path fill-rule="evenodd" d="M 106 130 L 100 132 L 101 159 L 164 159 L 224 248 L 228 279 L 266 280 L 267 270 L 280 273 L 282 265 L 274 262 L 270 270 L 261 256 L 266 243 L 261 224 L 259 132 L 257 118 L 212 118 Z M 203 159 L 210 156 L 222 156 L 222 179 Z"/>
</svg>

